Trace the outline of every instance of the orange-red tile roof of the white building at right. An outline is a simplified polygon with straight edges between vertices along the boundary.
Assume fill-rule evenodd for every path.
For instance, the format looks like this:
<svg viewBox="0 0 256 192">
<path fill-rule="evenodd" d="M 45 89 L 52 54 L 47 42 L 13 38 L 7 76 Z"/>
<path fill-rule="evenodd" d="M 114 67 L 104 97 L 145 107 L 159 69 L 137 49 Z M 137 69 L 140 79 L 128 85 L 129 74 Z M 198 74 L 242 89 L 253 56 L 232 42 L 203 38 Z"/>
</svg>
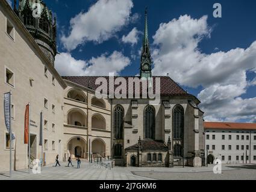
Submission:
<svg viewBox="0 0 256 192">
<path fill-rule="evenodd" d="M 256 124 L 237 122 L 204 122 L 205 129 L 256 130 Z"/>
</svg>

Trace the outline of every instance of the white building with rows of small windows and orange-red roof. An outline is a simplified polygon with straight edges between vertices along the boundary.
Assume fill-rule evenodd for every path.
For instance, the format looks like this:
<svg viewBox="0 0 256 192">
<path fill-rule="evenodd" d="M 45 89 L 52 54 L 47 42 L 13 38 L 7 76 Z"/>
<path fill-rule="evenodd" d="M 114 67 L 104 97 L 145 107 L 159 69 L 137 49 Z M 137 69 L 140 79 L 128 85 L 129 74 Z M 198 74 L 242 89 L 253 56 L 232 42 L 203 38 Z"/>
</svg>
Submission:
<svg viewBox="0 0 256 192">
<path fill-rule="evenodd" d="M 213 163 L 256 163 L 256 124 L 204 122 L 205 158 Z"/>
</svg>

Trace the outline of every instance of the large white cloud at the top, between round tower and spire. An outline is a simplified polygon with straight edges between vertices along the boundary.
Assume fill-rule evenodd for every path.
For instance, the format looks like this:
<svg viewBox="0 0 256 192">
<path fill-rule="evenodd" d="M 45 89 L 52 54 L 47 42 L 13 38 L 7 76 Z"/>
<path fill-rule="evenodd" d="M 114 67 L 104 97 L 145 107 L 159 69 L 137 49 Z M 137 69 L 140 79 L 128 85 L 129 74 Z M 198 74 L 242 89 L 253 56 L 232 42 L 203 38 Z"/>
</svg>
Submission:
<svg viewBox="0 0 256 192">
<path fill-rule="evenodd" d="M 76 49 L 86 41 L 101 43 L 113 37 L 130 20 L 131 0 L 99 0 L 86 13 L 70 20 L 70 34 L 61 37 L 67 50 Z"/>
</svg>

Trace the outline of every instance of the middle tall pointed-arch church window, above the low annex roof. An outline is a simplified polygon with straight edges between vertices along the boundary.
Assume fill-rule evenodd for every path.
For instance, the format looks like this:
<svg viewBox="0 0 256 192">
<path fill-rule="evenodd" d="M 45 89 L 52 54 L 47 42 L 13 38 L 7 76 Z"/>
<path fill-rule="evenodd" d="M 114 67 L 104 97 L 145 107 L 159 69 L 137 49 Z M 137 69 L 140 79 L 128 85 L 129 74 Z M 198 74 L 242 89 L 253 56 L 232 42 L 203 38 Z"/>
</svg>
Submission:
<svg viewBox="0 0 256 192">
<path fill-rule="evenodd" d="M 155 139 L 155 110 L 148 106 L 144 114 L 144 138 Z"/>
</svg>

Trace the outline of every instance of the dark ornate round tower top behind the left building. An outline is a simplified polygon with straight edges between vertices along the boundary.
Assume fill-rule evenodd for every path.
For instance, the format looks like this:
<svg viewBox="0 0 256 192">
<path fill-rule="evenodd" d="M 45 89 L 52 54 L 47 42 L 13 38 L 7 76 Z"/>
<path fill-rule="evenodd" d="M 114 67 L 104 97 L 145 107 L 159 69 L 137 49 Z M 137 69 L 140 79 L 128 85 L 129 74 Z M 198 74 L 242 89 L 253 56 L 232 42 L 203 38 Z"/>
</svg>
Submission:
<svg viewBox="0 0 256 192">
<path fill-rule="evenodd" d="M 16 3 L 16 0 L 14 0 L 15 13 L 22 20 L 52 65 L 54 65 L 57 54 L 56 18 L 52 18 L 52 11 L 48 9 L 43 0 L 19 0 L 17 9 Z M 35 11 L 39 8 L 39 11 Z M 35 15 L 36 17 L 34 17 Z"/>
</svg>

